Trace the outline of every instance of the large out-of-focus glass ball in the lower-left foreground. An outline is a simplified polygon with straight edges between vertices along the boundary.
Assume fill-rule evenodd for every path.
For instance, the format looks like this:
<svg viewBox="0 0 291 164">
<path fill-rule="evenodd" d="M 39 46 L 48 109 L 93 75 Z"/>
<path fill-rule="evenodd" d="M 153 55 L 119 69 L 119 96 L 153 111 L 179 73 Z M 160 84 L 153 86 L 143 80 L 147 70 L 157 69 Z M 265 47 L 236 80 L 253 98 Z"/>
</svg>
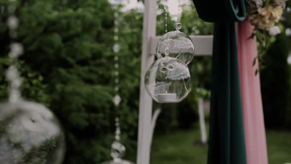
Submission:
<svg viewBox="0 0 291 164">
<path fill-rule="evenodd" d="M 62 164 L 64 139 L 57 119 L 43 105 L 0 103 L 0 164 Z"/>
</svg>

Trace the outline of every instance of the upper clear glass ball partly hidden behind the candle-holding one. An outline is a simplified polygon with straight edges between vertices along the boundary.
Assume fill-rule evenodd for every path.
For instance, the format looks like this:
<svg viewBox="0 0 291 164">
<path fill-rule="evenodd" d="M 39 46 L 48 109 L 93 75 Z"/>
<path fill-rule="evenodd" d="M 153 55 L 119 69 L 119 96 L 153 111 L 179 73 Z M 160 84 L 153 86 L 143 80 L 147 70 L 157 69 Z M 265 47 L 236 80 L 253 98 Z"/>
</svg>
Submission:
<svg viewBox="0 0 291 164">
<path fill-rule="evenodd" d="M 179 31 L 182 28 L 180 22 L 175 23 L 175 28 L 176 31 L 164 34 L 159 40 L 156 47 L 156 56 L 161 59 L 169 55 L 188 65 L 194 57 L 193 41 L 189 36 Z"/>
</svg>

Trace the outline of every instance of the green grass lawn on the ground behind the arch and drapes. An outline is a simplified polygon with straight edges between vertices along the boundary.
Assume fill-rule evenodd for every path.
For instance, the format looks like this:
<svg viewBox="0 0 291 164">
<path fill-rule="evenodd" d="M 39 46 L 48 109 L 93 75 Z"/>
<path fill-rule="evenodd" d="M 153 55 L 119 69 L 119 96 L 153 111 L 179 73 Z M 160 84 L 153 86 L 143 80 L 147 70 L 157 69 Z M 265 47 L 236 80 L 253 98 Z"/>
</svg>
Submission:
<svg viewBox="0 0 291 164">
<path fill-rule="evenodd" d="M 154 136 L 150 164 L 206 164 L 207 146 L 194 144 L 200 132 L 174 131 Z M 291 132 L 267 131 L 269 164 L 291 163 Z"/>
</svg>

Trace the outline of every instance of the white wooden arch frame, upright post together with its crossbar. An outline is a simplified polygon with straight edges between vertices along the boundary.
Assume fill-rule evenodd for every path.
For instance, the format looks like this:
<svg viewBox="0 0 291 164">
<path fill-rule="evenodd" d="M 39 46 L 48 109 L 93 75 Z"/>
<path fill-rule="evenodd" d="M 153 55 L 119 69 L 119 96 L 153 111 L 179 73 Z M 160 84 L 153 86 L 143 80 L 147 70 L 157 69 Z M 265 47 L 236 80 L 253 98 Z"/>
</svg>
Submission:
<svg viewBox="0 0 291 164">
<path fill-rule="evenodd" d="M 149 164 L 152 137 L 152 99 L 146 92 L 145 74 L 154 62 L 155 49 L 160 37 L 156 36 L 157 0 L 145 0 L 143 24 L 143 51 L 140 83 L 140 110 L 137 164 Z M 213 36 L 190 36 L 195 45 L 195 55 L 212 55 Z"/>
</svg>

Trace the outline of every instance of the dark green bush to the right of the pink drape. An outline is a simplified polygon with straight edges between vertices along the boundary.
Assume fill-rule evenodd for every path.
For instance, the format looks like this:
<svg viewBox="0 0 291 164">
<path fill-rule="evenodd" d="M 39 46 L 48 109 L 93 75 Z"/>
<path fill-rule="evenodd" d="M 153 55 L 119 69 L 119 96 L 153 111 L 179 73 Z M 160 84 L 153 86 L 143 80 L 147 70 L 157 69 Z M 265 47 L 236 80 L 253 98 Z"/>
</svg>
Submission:
<svg viewBox="0 0 291 164">
<path fill-rule="evenodd" d="M 263 110 L 266 127 L 284 127 L 288 109 L 289 71 L 287 57 L 289 44 L 280 34 L 270 46 L 263 60 L 267 63 L 260 73 Z"/>
</svg>

